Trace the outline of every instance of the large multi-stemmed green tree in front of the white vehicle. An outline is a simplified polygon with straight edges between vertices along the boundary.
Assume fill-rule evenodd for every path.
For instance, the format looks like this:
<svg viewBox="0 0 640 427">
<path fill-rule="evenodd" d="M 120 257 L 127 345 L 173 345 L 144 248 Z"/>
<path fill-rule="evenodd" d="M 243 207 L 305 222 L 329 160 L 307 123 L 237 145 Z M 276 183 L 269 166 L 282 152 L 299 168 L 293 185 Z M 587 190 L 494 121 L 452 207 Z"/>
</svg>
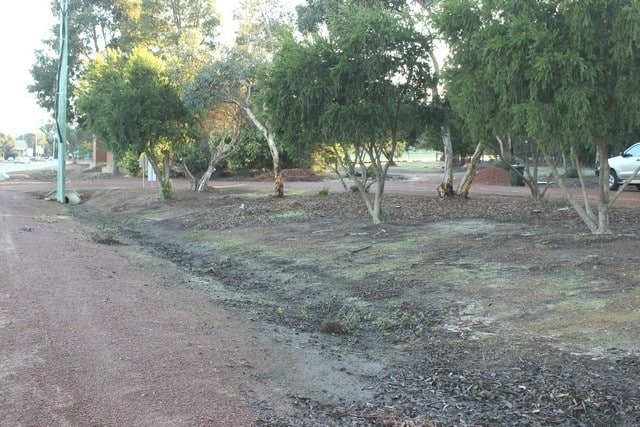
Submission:
<svg viewBox="0 0 640 427">
<path fill-rule="evenodd" d="M 609 146 L 640 124 L 640 3 L 634 0 L 444 0 L 437 20 L 452 47 L 447 90 L 480 135 L 517 135 L 544 153 L 554 178 L 594 234 L 611 232 Z M 597 207 L 564 185 L 559 156 L 592 147 Z"/>
</svg>

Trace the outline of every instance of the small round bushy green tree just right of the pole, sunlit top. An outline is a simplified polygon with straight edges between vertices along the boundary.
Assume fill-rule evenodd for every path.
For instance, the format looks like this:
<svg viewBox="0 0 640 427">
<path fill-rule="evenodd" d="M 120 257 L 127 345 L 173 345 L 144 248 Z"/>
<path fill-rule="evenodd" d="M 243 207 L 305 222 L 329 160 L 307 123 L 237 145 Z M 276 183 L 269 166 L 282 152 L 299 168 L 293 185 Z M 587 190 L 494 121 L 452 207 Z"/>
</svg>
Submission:
<svg viewBox="0 0 640 427">
<path fill-rule="evenodd" d="M 146 154 L 165 198 L 176 147 L 187 141 L 190 115 L 162 61 L 147 49 L 108 49 L 92 61 L 76 90 L 85 126 L 117 155 Z"/>
</svg>

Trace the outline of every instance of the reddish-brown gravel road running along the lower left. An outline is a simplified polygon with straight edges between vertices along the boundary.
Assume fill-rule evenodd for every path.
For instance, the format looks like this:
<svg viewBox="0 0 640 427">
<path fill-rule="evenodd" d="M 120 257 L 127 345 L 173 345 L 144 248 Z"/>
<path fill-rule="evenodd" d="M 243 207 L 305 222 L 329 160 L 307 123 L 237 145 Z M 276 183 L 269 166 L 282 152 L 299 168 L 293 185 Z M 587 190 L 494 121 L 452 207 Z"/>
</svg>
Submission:
<svg viewBox="0 0 640 427">
<path fill-rule="evenodd" d="M 284 351 L 203 309 L 177 272 L 95 240 L 57 203 L 0 191 L 2 425 L 239 426 L 260 404 L 286 412 L 256 381 Z"/>
</svg>

